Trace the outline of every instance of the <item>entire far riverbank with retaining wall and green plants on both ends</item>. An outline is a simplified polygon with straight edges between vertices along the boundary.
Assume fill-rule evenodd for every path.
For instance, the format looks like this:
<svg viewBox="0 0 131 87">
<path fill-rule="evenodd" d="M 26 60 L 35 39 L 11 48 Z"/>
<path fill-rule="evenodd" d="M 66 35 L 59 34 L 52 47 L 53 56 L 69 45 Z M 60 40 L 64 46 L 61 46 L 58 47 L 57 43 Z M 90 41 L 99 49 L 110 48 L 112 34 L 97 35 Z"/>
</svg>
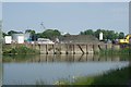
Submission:
<svg viewBox="0 0 131 87">
<path fill-rule="evenodd" d="M 131 48 L 121 48 L 120 45 L 82 45 L 82 44 L 55 44 L 55 45 L 3 45 L 2 51 L 12 54 L 131 54 Z"/>
</svg>

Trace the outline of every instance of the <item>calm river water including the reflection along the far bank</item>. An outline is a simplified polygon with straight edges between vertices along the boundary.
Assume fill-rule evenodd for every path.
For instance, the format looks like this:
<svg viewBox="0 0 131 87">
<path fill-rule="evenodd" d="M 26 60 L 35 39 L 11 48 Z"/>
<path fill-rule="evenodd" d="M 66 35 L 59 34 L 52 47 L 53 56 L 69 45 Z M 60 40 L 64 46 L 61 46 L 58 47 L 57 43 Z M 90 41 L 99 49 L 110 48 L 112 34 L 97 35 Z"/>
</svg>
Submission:
<svg viewBox="0 0 131 87">
<path fill-rule="evenodd" d="M 120 55 L 3 55 L 3 85 L 51 85 L 61 79 L 73 82 L 76 77 L 128 65 L 128 57 Z"/>
</svg>

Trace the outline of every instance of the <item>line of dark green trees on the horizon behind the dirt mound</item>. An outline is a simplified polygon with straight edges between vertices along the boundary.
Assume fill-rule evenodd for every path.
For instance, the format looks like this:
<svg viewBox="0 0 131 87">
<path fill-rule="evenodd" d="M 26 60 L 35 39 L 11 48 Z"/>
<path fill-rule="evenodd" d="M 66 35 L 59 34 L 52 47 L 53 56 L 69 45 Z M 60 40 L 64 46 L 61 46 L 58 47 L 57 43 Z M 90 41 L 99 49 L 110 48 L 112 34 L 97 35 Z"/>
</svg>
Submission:
<svg viewBox="0 0 131 87">
<path fill-rule="evenodd" d="M 122 39 L 124 38 L 124 33 L 120 32 L 115 32 L 115 30 L 106 30 L 106 29 L 97 29 L 97 30 L 93 30 L 93 29 L 86 29 L 84 32 L 80 32 L 79 35 L 92 35 L 95 36 L 96 38 L 99 38 L 99 33 L 103 33 L 103 38 L 105 40 L 115 40 L 115 39 Z M 2 33 L 3 37 L 7 35 L 12 35 L 12 34 L 21 34 L 22 32 L 15 32 L 15 30 L 10 30 L 8 32 L 8 34 Z M 46 29 L 43 33 L 36 33 L 33 29 L 26 29 L 25 33 L 31 33 L 32 36 L 37 36 L 37 38 L 56 38 L 56 37 L 60 37 L 62 36 L 61 33 L 58 29 Z M 70 35 L 70 34 L 67 34 Z M 66 35 L 64 35 L 66 36 Z"/>
</svg>

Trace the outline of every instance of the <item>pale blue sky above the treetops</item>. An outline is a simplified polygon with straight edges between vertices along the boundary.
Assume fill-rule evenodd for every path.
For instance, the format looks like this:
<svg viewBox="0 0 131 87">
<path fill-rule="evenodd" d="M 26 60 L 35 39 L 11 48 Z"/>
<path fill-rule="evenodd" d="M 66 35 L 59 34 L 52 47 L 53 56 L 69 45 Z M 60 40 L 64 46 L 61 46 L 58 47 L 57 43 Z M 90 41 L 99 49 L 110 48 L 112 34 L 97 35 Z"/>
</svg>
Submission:
<svg viewBox="0 0 131 87">
<path fill-rule="evenodd" d="M 129 33 L 128 2 L 3 2 L 3 32 L 56 28 L 73 35 L 86 29 Z"/>
</svg>

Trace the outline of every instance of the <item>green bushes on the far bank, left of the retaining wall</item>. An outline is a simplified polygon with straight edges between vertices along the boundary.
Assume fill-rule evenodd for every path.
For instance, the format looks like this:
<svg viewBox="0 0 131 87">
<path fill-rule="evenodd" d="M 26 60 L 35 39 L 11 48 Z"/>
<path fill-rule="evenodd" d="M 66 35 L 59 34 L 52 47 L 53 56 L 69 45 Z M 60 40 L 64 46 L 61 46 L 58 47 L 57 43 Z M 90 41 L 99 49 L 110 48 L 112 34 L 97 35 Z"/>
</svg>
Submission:
<svg viewBox="0 0 131 87">
<path fill-rule="evenodd" d="M 3 54 L 38 54 L 39 51 L 35 49 L 27 48 L 25 46 L 20 46 L 15 48 L 7 48 L 7 46 L 3 47 Z"/>
</svg>

